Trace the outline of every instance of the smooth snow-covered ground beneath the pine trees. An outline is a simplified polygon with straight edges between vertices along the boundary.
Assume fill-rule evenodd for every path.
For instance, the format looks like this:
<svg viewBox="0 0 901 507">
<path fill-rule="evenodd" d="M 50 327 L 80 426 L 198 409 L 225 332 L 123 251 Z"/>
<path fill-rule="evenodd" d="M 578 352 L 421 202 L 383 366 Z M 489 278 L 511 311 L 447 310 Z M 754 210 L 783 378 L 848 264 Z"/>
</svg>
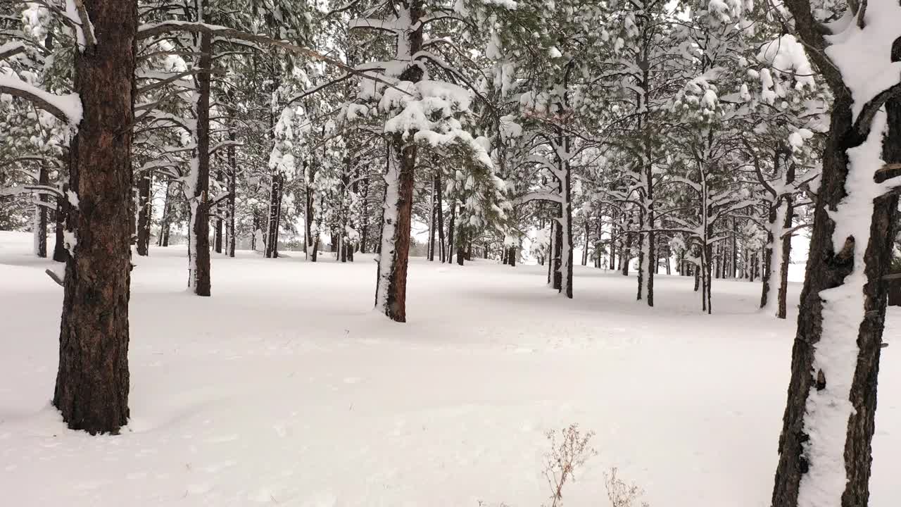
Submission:
<svg viewBox="0 0 901 507">
<path fill-rule="evenodd" d="M 796 309 L 760 284 L 414 259 L 406 324 L 371 311 L 375 266 L 214 254 L 213 297 L 185 290 L 184 247 L 132 272 L 132 419 L 116 437 L 50 407 L 62 290 L 0 232 L 0 498 L 5 505 L 511 507 L 550 504 L 545 433 L 578 423 L 597 456 L 564 491 L 608 505 L 604 474 L 652 507 L 765 507 Z M 800 286 L 793 284 L 791 306 Z M 901 498 L 901 309 L 879 377 L 871 507 Z M 896 349 L 897 347 L 897 349 Z"/>
</svg>

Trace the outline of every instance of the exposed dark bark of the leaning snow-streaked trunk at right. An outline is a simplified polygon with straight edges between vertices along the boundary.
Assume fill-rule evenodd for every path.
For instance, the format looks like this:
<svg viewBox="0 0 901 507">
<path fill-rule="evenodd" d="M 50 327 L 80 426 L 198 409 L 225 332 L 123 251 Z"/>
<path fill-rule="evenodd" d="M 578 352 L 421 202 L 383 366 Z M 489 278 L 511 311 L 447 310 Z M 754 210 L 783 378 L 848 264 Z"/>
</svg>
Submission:
<svg viewBox="0 0 901 507">
<path fill-rule="evenodd" d="M 812 31 L 813 21 L 809 11 L 805 10 L 805 3 L 791 2 L 788 5 L 805 41 L 813 43 L 815 47 L 822 47 L 822 35 Z M 901 60 L 899 49 L 901 44 L 896 41 L 892 60 Z M 823 65 L 820 65 L 820 69 L 823 72 L 829 71 L 824 70 Z M 822 291 L 841 286 L 851 272 L 861 268 L 854 266 L 855 238 L 846 238 L 842 250 L 834 251 L 833 233 L 836 224 L 829 212 L 834 211 L 842 198 L 846 197 L 848 150 L 866 140 L 870 125 L 853 123 L 849 90 L 843 85 L 835 85 L 834 79 L 832 84 L 835 100 L 823 157 L 822 183 L 816 199 L 797 334 L 792 349 L 791 381 L 778 443 L 779 462 L 773 488 L 773 507 L 794 507 L 797 504 L 799 484 L 808 472 L 805 442 L 809 437 L 805 433 L 804 423 L 807 401 L 813 389 L 826 389 L 832 380 L 829 372 L 813 371 L 815 350 L 824 331 Z M 864 106 L 865 112 L 868 106 Z M 885 108 L 888 134 L 883 140 L 882 159 L 886 163 L 896 163 L 901 161 L 901 100 L 889 98 Z M 860 171 L 860 168 L 856 169 Z M 871 442 L 875 430 L 879 353 L 886 310 L 886 284 L 881 279 L 888 272 L 891 262 L 897 195 L 875 198 L 873 204 L 869 243 L 863 256 L 862 269 L 867 277 L 863 288 L 866 313 L 860 322 L 856 339 L 859 351 L 849 400 L 853 411 L 848 419 L 843 453 L 847 483 L 842 493 L 842 507 L 860 507 L 869 502 Z M 838 502 L 838 499 L 834 499 L 834 502 Z"/>
</svg>

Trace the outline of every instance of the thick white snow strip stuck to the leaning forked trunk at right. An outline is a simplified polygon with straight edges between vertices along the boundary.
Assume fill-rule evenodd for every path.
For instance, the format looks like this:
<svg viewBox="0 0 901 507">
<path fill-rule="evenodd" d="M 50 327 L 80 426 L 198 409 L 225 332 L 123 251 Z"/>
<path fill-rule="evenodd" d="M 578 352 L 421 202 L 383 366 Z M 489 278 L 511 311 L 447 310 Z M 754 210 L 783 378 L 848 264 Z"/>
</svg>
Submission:
<svg viewBox="0 0 901 507">
<path fill-rule="evenodd" d="M 891 48 L 901 35 L 901 6 L 894 0 L 871 0 L 867 4 L 864 27 L 843 20 L 842 28 L 827 37 L 826 55 L 842 73 L 842 81 L 851 90 L 856 119 L 863 106 L 878 93 L 896 85 L 901 78 L 901 63 L 891 62 Z M 847 150 L 848 175 L 846 197 L 830 212 L 835 222 L 833 249 L 840 252 L 853 238 L 853 271 L 842 285 L 820 292 L 823 304 L 823 335 L 814 348 L 813 371 L 824 373 L 825 388 L 811 389 L 804 416 L 804 431 L 810 439 L 804 453 L 809 471 L 802 476 L 798 490 L 799 507 L 839 505 L 848 481 L 844 467 L 844 449 L 848 418 L 854 411 L 851 384 L 857 367 L 857 336 L 866 313 L 863 288 L 867 283 L 865 252 L 869 244 L 873 199 L 885 189 L 873 181 L 873 172 L 882 160 L 883 135 L 887 115 L 880 110 L 873 116 L 866 141 Z M 892 336 L 886 331 L 885 336 Z"/>
</svg>

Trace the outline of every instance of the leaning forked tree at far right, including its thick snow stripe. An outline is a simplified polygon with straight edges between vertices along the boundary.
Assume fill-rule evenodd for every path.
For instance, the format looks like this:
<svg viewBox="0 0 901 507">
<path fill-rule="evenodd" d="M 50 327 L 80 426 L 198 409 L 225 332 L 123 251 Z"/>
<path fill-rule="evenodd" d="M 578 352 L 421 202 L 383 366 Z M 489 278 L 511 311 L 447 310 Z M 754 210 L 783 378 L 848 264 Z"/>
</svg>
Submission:
<svg viewBox="0 0 901 507">
<path fill-rule="evenodd" d="M 869 502 L 886 309 L 881 279 L 897 208 L 880 170 L 901 162 L 901 6 L 855 5 L 829 41 L 809 4 L 787 6 L 835 98 L 772 504 L 861 506 Z"/>
</svg>

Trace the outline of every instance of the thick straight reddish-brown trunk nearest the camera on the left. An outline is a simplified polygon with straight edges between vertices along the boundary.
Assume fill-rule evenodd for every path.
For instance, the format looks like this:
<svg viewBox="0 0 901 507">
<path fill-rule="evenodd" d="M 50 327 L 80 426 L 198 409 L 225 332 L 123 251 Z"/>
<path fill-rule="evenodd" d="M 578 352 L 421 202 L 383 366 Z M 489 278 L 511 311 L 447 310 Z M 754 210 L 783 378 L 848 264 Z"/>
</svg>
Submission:
<svg viewBox="0 0 901 507">
<path fill-rule="evenodd" d="M 75 53 L 83 118 L 72 142 L 66 263 L 53 405 L 70 429 L 127 421 L 132 106 L 137 2 L 84 0 L 96 44 Z"/>
</svg>

